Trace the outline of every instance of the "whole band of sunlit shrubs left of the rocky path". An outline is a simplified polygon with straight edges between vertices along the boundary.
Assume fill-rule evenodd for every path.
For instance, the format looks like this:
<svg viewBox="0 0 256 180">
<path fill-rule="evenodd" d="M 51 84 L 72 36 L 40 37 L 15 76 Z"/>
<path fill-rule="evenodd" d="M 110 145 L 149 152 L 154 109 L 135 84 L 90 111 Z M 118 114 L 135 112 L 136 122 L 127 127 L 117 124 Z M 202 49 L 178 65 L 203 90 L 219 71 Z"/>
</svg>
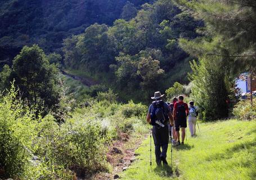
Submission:
<svg viewBox="0 0 256 180">
<path fill-rule="evenodd" d="M 6 178 L 72 179 L 108 170 L 107 146 L 118 132 L 145 133 L 146 106 L 92 102 L 61 124 L 28 109 L 12 85 L 0 102 L 0 169 Z M 122 121 L 129 111 L 129 118 Z"/>
</svg>

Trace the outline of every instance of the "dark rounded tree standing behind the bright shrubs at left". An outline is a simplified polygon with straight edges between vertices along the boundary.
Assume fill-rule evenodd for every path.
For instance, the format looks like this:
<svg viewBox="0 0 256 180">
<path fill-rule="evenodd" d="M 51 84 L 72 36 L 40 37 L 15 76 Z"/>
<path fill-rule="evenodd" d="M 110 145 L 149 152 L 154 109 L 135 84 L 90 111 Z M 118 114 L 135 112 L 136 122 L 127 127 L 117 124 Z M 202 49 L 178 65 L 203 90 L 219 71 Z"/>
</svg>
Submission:
<svg viewBox="0 0 256 180">
<path fill-rule="evenodd" d="M 49 111 L 59 103 L 57 70 L 39 46 L 23 47 L 13 61 L 12 77 L 29 107 Z"/>
</svg>

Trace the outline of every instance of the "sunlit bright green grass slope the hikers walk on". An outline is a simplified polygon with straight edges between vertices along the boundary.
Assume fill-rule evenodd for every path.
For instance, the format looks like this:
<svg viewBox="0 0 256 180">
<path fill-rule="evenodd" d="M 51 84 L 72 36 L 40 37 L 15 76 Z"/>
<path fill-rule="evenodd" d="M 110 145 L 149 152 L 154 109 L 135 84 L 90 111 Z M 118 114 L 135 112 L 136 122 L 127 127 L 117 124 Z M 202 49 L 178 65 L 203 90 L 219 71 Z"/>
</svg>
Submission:
<svg viewBox="0 0 256 180">
<path fill-rule="evenodd" d="M 200 130 L 199 136 L 188 137 L 185 145 L 173 149 L 173 168 L 157 168 L 154 150 L 150 167 L 148 138 L 122 179 L 256 179 L 256 121 L 202 123 Z"/>
</svg>

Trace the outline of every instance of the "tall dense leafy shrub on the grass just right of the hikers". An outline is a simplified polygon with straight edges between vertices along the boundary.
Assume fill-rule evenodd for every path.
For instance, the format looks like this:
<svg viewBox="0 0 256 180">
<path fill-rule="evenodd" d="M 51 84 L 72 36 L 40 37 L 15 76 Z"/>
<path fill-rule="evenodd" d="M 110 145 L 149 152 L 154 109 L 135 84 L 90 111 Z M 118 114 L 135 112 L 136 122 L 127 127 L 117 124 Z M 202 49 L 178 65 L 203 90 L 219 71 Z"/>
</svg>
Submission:
<svg viewBox="0 0 256 180">
<path fill-rule="evenodd" d="M 201 59 L 200 64 L 191 62 L 193 73 L 191 97 L 201 110 L 201 117 L 206 120 L 227 118 L 228 91 L 224 82 L 225 71 L 217 65 L 218 60 Z"/>
</svg>

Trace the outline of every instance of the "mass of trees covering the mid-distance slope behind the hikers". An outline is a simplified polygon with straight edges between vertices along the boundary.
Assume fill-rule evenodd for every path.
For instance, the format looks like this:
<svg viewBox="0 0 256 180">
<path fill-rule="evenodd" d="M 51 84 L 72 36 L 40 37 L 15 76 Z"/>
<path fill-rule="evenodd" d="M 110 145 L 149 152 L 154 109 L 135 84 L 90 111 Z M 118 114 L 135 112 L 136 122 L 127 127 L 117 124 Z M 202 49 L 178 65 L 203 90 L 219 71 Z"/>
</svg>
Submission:
<svg viewBox="0 0 256 180">
<path fill-rule="evenodd" d="M 128 6 L 131 8 L 132 4 L 127 2 L 124 10 Z M 115 77 L 103 76 L 97 80 L 106 82 L 116 92 L 127 89 L 126 94 L 133 97 L 137 93 L 133 89 L 140 86 L 138 98 L 145 101 L 150 93 L 165 91 L 169 82 L 182 79 L 179 82 L 188 83 L 186 78 L 180 78 L 179 71 L 174 78 L 170 73 L 177 64 L 185 77 L 187 70 L 190 71 L 186 65 L 183 70 L 188 56 L 178 47 L 177 38 L 197 37 L 195 29 L 201 24 L 171 1 L 144 4 L 129 21 L 119 19 L 111 27 L 93 24 L 83 34 L 65 39 L 65 65 L 91 74 L 113 73 Z M 184 33 L 186 29 L 189 30 Z M 116 80 L 120 83 L 118 86 L 112 83 Z"/>
</svg>

